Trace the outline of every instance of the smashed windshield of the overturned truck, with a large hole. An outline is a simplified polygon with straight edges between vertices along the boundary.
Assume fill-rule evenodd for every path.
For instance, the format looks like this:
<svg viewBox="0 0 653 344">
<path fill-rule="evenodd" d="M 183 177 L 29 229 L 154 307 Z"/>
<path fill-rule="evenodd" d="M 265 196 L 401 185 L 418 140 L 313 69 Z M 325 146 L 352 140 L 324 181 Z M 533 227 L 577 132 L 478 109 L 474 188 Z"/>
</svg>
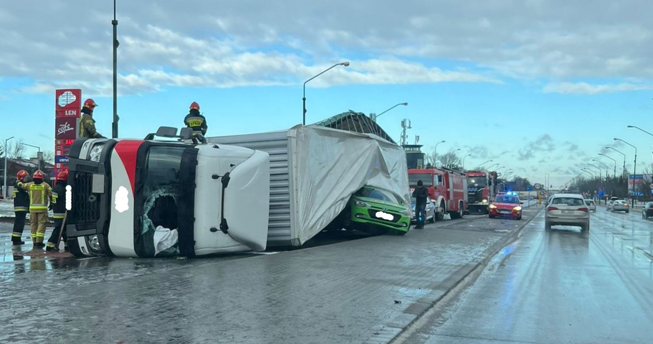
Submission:
<svg viewBox="0 0 653 344">
<path fill-rule="evenodd" d="M 178 199 L 182 188 L 180 168 L 183 147 L 152 146 L 148 150 L 142 185 L 142 226 L 135 233 L 135 249 L 141 257 L 176 255 Z M 155 236 L 155 232 L 159 232 Z M 161 238 L 169 247 L 157 243 Z M 156 239 L 156 240 L 155 240 Z M 155 242 L 157 241 L 157 242 Z M 161 253 L 161 255 L 159 255 Z"/>
</svg>

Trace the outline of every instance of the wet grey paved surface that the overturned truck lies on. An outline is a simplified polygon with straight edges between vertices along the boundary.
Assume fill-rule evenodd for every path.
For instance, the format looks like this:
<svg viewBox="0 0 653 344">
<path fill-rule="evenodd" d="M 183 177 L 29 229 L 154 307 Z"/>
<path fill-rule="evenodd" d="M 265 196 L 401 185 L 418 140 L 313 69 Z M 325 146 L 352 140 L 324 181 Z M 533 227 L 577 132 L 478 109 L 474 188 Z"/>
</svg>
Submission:
<svg viewBox="0 0 653 344">
<path fill-rule="evenodd" d="M 534 214 L 185 260 L 35 253 L 0 224 L 0 343 L 387 343 Z"/>
</svg>

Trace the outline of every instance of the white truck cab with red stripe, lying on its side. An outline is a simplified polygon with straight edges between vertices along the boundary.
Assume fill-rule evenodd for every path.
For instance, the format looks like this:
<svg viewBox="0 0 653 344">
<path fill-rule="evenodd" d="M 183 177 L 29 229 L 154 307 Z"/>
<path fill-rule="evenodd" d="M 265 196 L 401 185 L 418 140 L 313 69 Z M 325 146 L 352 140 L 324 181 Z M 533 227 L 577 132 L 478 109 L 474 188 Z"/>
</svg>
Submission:
<svg viewBox="0 0 653 344">
<path fill-rule="evenodd" d="M 71 253 L 195 257 L 266 249 L 268 153 L 208 144 L 189 128 L 176 133 L 161 127 L 144 140 L 71 145 Z"/>
</svg>

